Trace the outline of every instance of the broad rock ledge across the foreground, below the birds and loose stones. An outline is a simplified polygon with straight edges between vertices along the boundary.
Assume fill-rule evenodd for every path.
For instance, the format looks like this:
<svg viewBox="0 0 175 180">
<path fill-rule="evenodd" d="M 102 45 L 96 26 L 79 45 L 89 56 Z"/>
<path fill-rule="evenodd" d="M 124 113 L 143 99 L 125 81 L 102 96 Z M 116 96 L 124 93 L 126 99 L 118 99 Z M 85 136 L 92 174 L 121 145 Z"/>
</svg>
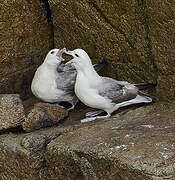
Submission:
<svg viewBox="0 0 175 180">
<path fill-rule="evenodd" d="M 174 108 L 130 107 L 107 120 L 1 135 L 0 177 L 174 180 Z"/>
</svg>

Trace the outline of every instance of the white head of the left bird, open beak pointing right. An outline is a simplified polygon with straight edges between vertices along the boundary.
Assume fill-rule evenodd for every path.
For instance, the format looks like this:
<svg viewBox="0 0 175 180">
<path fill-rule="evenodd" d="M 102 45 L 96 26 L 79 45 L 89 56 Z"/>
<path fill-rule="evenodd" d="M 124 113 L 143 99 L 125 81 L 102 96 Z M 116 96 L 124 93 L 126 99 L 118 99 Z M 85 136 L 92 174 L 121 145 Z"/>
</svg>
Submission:
<svg viewBox="0 0 175 180">
<path fill-rule="evenodd" d="M 62 58 L 62 54 L 66 51 L 65 48 L 63 49 L 52 49 L 48 52 L 46 55 L 46 58 L 44 60 L 44 63 L 51 65 L 51 66 L 57 66 L 59 65 L 64 59 Z"/>
</svg>

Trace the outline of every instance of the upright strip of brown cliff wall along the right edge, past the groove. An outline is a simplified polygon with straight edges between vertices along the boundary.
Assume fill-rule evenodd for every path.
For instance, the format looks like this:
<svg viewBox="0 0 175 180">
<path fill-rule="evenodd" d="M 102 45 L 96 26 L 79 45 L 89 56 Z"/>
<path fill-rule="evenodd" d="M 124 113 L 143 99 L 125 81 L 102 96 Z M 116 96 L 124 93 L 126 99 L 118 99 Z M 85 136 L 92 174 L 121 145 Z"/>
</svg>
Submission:
<svg viewBox="0 0 175 180">
<path fill-rule="evenodd" d="M 175 99 L 175 4 L 148 0 L 149 38 L 157 67 L 157 91 L 161 99 Z"/>
</svg>

